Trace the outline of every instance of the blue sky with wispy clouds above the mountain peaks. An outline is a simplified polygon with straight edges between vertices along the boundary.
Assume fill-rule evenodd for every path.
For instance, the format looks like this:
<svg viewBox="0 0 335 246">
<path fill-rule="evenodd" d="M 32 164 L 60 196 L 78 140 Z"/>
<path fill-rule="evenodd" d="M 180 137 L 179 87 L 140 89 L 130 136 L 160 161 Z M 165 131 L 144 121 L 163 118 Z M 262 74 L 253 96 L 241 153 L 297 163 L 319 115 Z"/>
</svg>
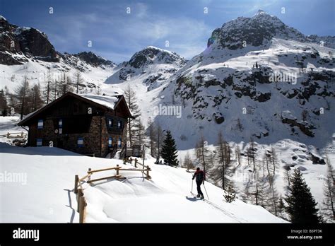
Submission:
<svg viewBox="0 0 335 246">
<path fill-rule="evenodd" d="M 148 45 L 190 59 L 206 48 L 215 28 L 258 9 L 306 35 L 335 35 L 334 0 L 0 0 L 1 16 L 47 33 L 57 51 L 92 51 L 116 63 Z"/>
</svg>

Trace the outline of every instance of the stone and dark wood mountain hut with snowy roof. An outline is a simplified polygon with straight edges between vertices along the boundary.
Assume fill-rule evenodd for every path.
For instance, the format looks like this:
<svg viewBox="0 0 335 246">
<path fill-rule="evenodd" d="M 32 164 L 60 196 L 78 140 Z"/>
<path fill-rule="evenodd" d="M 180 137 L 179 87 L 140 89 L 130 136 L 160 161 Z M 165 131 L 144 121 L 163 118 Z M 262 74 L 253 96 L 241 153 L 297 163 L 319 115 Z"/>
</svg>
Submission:
<svg viewBox="0 0 335 246">
<path fill-rule="evenodd" d="M 53 146 L 87 156 L 114 157 L 127 151 L 127 119 L 134 119 L 123 95 L 66 93 L 18 123 L 29 127 L 28 146 Z M 141 153 L 136 153 L 140 156 Z M 122 156 L 126 157 L 126 156 Z"/>
</svg>

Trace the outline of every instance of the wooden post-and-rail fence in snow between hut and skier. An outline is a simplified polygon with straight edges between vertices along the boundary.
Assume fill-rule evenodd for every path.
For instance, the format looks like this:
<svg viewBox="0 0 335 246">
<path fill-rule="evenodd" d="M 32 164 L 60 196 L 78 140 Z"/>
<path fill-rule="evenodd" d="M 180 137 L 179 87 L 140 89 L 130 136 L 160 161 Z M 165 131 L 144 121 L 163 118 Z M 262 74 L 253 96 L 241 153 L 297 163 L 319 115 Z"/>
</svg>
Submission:
<svg viewBox="0 0 335 246">
<path fill-rule="evenodd" d="M 140 164 L 142 165 L 142 164 Z M 108 180 L 110 178 L 115 178 L 117 180 L 119 180 L 120 178 L 122 178 L 123 176 L 119 174 L 120 171 L 139 171 L 142 172 L 144 176 L 146 176 L 147 180 L 151 179 L 151 176 L 149 175 L 149 172 L 151 171 L 151 169 L 149 168 L 149 166 L 144 166 L 142 169 L 136 169 L 137 167 L 137 159 L 135 160 L 135 168 L 122 168 L 119 165 L 117 165 L 114 168 L 102 168 L 102 169 L 98 169 L 98 170 L 91 170 L 91 168 L 88 168 L 88 172 L 87 175 L 85 175 L 84 177 L 79 178 L 78 175 L 75 175 L 74 177 L 74 193 L 77 194 L 77 211 L 79 213 L 79 223 L 85 223 L 86 221 L 86 199 L 84 197 L 83 194 L 83 185 L 81 184 L 81 182 L 86 181 L 88 184 L 92 183 L 92 182 L 97 182 L 100 180 Z M 91 176 L 93 175 L 93 173 L 95 172 L 103 172 L 103 171 L 108 171 L 108 170 L 115 170 L 116 171 L 116 175 L 112 175 L 112 176 L 108 176 L 108 177 L 100 177 L 94 180 L 91 180 Z"/>
</svg>

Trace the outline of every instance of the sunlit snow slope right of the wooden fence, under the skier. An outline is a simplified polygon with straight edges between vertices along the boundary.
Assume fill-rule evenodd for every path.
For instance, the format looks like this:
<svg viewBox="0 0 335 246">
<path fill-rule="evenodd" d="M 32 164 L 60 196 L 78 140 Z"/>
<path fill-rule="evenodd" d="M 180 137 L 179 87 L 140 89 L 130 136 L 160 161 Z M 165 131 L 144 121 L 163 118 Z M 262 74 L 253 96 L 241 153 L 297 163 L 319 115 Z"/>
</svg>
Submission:
<svg viewBox="0 0 335 246">
<path fill-rule="evenodd" d="M 151 181 L 129 172 L 129 178 L 122 182 L 105 182 L 86 189 L 88 221 L 283 222 L 259 206 L 239 200 L 228 204 L 223 199 L 223 191 L 208 182 L 205 185 L 210 200 L 194 199 L 189 193 L 192 174 L 183 168 L 154 165 L 153 158 L 146 162 L 151 163 Z M 194 184 L 196 193 L 195 190 Z"/>
</svg>

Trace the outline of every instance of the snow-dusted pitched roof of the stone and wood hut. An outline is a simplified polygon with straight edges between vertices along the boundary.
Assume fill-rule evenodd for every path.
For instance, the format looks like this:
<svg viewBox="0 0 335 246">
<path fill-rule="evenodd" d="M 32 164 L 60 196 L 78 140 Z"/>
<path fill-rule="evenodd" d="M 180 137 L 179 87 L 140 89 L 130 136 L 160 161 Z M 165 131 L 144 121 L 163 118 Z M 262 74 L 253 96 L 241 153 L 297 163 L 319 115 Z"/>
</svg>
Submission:
<svg viewBox="0 0 335 246">
<path fill-rule="evenodd" d="M 50 102 L 49 104 L 45 105 L 44 107 L 41 107 L 39 110 L 36 110 L 35 112 L 31 112 L 30 114 L 26 115 L 24 119 L 22 119 L 20 122 L 18 122 L 19 126 L 22 126 L 25 124 L 25 122 L 28 122 L 29 119 L 35 117 L 36 115 L 39 115 L 41 112 L 44 112 L 52 105 L 56 104 L 60 100 L 63 100 L 66 97 L 74 97 L 79 100 L 83 100 L 86 102 L 89 102 L 93 105 L 96 105 L 98 107 L 103 107 L 107 110 L 115 110 L 120 102 L 124 102 L 127 105 L 127 102 L 124 100 L 124 96 L 120 94 L 115 95 L 93 95 L 93 94 L 76 94 L 76 93 L 65 93 L 60 98 L 57 98 L 56 100 Z M 133 117 L 131 115 L 131 112 L 129 110 L 129 107 L 127 106 L 127 111 L 129 113 L 129 117 Z"/>
</svg>

